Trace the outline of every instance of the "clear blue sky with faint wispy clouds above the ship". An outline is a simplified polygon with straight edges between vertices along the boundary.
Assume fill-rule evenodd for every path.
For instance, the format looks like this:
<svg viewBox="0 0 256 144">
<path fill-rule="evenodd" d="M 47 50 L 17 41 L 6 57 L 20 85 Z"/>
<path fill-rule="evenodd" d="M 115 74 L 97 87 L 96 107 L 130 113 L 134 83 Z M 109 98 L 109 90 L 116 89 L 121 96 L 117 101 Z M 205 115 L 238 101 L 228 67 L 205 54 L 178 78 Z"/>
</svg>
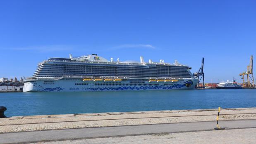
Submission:
<svg viewBox="0 0 256 144">
<path fill-rule="evenodd" d="M 0 77 L 32 76 L 49 57 L 177 59 L 206 82 L 232 80 L 256 56 L 255 0 L 6 0 Z"/>
</svg>

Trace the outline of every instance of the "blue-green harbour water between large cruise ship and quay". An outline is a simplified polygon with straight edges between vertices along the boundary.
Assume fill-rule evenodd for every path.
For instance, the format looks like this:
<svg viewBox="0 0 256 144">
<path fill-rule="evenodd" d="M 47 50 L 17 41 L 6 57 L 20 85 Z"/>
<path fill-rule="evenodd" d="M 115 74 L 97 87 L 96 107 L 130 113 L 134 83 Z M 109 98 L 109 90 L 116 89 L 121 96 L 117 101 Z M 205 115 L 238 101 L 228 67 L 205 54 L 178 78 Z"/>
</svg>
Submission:
<svg viewBox="0 0 256 144">
<path fill-rule="evenodd" d="M 0 93 L 6 116 L 256 107 L 256 89 Z"/>
</svg>

